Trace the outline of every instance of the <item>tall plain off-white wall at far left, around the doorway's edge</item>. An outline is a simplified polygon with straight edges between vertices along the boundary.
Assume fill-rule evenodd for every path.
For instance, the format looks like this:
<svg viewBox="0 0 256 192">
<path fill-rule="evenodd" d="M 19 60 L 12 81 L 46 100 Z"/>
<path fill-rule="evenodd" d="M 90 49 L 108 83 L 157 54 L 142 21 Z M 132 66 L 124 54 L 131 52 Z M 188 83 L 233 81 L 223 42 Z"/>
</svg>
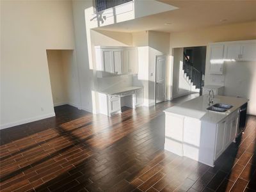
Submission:
<svg viewBox="0 0 256 192">
<path fill-rule="evenodd" d="M 74 49 L 70 1 L 1 1 L 1 128 L 54 116 L 46 49 Z"/>
</svg>

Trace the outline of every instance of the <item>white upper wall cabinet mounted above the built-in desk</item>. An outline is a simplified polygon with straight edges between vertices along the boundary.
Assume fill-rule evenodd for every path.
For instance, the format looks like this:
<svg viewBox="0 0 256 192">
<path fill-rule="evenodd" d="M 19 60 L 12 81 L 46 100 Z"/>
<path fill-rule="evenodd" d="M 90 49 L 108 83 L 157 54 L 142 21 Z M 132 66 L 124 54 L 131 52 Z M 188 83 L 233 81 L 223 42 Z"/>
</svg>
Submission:
<svg viewBox="0 0 256 192">
<path fill-rule="evenodd" d="M 95 47 L 97 76 L 116 76 L 138 73 L 136 47 Z"/>
</svg>

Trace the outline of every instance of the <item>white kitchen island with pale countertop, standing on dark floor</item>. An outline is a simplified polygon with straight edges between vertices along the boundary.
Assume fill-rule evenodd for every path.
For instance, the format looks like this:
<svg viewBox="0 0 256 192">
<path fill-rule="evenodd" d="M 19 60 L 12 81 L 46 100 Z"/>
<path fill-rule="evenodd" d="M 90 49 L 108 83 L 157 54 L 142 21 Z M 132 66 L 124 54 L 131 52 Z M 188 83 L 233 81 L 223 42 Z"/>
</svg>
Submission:
<svg viewBox="0 0 256 192">
<path fill-rule="evenodd" d="M 209 111 L 208 95 L 196 97 L 164 111 L 164 148 L 209 166 L 235 140 L 239 109 L 248 99 L 217 95 L 214 104 L 228 104 L 225 112 Z"/>
</svg>

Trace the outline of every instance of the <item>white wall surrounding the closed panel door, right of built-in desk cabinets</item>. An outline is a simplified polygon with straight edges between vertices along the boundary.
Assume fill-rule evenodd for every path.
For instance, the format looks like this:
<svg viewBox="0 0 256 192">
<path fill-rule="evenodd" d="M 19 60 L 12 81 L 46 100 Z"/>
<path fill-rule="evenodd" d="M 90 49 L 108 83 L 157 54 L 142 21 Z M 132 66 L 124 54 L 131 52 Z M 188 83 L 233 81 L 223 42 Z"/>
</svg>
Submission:
<svg viewBox="0 0 256 192">
<path fill-rule="evenodd" d="M 132 44 L 138 47 L 138 77 L 134 84 L 144 86 L 144 106 L 155 103 L 156 56 L 166 56 L 166 87 L 170 86 L 170 34 L 158 31 L 140 31 L 132 33 Z M 152 74 L 152 76 L 151 76 Z M 166 92 L 170 89 L 166 89 Z"/>
</svg>

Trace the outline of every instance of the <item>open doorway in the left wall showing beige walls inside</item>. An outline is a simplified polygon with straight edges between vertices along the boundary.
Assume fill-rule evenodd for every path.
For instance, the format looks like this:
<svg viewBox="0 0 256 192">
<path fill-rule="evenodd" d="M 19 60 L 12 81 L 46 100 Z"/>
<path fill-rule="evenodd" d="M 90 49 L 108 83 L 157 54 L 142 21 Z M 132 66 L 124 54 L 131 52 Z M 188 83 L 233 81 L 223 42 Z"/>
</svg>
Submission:
<svg viewBox="0 0 256 192">
<path fill-rule="evenodd" d="M 46 50 L 53 106 L 79 108 L 80 95 L 73 50 Z"/>
</svg>

